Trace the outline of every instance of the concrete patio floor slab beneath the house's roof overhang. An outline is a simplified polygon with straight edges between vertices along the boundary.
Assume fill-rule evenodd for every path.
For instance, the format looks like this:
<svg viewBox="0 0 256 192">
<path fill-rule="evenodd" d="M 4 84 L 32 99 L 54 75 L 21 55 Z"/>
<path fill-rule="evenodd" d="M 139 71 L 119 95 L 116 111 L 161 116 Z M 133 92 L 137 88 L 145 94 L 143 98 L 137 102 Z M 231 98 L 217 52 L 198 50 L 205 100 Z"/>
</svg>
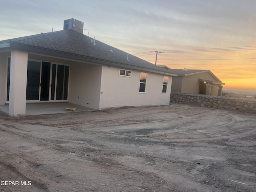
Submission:
<svg viewBox="0 0 256 192">
<path fill-rule="evenodd" d="M 95 111 L 96 109 L 76 105 L 68 102 L 40 102 L 26 103 L 26 116 L 42 115 L 42 114 L 58 114 L 58 113 L 74 113 L 73 111 L 65 110 L 65 108 L 76 108 L 74 112 Z M 9 105 L 0 105 L 0 111 L 8 114 Z"/>
</svg>

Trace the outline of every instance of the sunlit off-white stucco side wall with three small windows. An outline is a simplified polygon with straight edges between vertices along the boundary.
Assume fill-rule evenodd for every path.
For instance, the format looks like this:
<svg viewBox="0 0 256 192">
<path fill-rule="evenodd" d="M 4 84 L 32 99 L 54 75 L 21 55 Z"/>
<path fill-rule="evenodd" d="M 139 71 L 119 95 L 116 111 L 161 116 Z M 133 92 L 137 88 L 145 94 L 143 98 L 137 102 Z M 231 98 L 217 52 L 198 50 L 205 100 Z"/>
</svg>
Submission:
<svg viewBox="0 0 256 192">
<path fill-rule="evenodd" d="M 139 93 L 139 82 L 140 71 L 132 70 L 131 77 L 124 77 L 119 76 L 119 68 L 102 66 L 100 109 L 170 103 L 171 76 L 166 94 L 162 94 L 163 75 L 148 73 L 146 93 Z"/>
</svg>

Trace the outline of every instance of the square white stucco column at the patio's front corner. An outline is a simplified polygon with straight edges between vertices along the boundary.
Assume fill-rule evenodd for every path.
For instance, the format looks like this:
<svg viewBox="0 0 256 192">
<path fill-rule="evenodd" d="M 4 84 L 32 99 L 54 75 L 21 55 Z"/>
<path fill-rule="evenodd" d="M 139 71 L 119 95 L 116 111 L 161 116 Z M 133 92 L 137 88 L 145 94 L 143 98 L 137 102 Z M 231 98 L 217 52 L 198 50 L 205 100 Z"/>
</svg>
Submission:
<svg viewBox="0 0 256 192">
<path fill-rule="evenodd" d="M 11 52 L 9 115 L 23 116 L 26 114 L 28 53 Z"/>
</svg>

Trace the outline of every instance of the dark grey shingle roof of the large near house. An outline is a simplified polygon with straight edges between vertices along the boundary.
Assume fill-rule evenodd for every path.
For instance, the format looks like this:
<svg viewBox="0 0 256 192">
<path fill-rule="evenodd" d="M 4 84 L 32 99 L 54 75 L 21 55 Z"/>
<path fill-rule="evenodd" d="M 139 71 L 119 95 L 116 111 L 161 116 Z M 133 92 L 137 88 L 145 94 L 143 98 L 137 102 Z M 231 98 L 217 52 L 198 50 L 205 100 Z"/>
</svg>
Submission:
<svg viewBox="0 0 256 192">
<path fill-rule="evenodd" d="M 57 32 L 13 38 L 10 40 L 0 41 L 0 43 L 13 42 L 25 46 L 43 48 L 46 50 L 52 50 L 54 52 L 61 52 L 64 54 L 74 54 L 87 58 L 96 58 L 100 60 L 116 62 L 125 64 L 127 67 L 135 66 L 156 70 L 159 72 L 172 73 L 172 71 L 166 68 L 156 66 L 130 54 L 128 61 L 126 52 L 98 40 L 95 40 L 94 45 L 93 41 L 93 38 L 83 35 L 79 32 L 73 30 L 61 30 Z"/>
</svg>

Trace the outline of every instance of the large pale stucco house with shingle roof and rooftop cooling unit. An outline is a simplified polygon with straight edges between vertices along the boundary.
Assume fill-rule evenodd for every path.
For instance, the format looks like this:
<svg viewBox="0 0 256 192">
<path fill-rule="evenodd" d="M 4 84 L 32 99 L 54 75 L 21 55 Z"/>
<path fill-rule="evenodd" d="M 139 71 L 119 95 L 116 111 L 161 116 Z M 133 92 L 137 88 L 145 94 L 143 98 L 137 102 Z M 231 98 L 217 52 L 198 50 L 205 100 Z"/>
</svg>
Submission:
<svg viewBox="0 0 256 192">
<path fill-rule="evenodd" d="M 70 102 L 94 109 L 167 105 L 170 70 L 82 34 L 83 22 L 64 30 L 0 41 L 0 105 L 9 115 L 26 102 Z"/>
</svg>

